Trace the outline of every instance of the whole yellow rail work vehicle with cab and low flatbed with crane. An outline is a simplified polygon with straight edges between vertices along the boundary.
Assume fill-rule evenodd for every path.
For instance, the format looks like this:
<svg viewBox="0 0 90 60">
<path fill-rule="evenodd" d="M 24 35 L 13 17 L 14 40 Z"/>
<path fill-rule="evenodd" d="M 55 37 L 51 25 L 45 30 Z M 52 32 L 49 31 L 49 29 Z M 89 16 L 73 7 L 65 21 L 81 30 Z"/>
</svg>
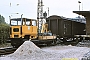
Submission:
<svg viewBox="0 0 90 60">
<path fill-rule="evenodd" d="M 19 47 L 24 41 L 31 40 L 38 44 L 56 44 L 57 37 L 48 32 L 48 25 L 43 24 L 38 32 L 37 20 L 28 18 L 10 19 L 10 41 L 14 47 Z"/>
</svg>

